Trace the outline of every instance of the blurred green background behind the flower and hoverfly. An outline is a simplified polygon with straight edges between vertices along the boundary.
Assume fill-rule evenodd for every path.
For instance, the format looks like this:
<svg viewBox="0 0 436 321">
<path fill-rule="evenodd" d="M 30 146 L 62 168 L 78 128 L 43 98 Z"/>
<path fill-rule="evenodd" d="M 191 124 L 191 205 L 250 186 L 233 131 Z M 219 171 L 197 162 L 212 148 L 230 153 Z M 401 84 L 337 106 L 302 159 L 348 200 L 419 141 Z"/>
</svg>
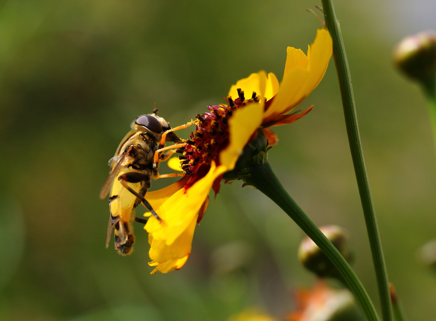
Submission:
<svg viewBox="0 0 436 321">
<path fill-rule="evenodd" d="M 314 280 L 296 260 L 303 233 L 260 192 L 223 186 L 187 264 L 155 275 L 140 225 L 132 255 L 105 249 L 109 210 L 98 195 L 134 118 L 156 104 L 180 125 L 252 72 L 281 79 L 286 46 L 313 42 L 320 25 L 305 9 L 320 2 L 0 3 L 0 319 L 225 321 L 253 305 L 277 318 L 291 311 L 293 291 Z M 391 63 L 402 36 L 434 24 L 411 3 L 335 5 L 389 277 L 409 319 L 428 321 L 436 275 L 416 250 L 436 237 L 436 154 L 419 88 Z M 315 223 L 349 230 L 354 268 L 378 307 L 333 60 L 301 108 L 311 104 L 276 128 L 269 160 Z"/>
</svg>

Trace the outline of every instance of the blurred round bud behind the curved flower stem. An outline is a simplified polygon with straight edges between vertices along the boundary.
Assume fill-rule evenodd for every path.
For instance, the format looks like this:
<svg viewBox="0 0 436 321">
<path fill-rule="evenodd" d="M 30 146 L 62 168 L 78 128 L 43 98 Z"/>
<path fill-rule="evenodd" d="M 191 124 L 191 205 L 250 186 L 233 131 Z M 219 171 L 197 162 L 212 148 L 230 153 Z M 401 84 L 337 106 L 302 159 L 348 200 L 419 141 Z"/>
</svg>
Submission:
<svg viewBox="0 0 436 321">
<path fill-rule="evenodd" d="M 337 248 L 345 260 L 350 261 L 352 259 L 348 247 L 348 235 L 344 229 L 336 225 L 326 225 L 321 226 L 320 230 L 334 247 Z M 298 249 L 298 258 L 307 270 L 317 274 L 319 277 L 341 278 L 339 270 L 309 237 L 301 241 Z"/>
</svg>

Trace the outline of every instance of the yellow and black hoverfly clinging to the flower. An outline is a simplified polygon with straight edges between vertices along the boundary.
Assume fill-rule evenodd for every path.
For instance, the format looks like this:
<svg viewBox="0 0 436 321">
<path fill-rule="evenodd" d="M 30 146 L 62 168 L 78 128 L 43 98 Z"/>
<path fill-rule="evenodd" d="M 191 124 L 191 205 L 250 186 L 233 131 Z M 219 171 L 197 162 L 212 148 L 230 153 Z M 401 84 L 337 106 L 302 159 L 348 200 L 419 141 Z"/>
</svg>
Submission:
<svg viewBox="0 0 436 321">
<path fill-rule="evenodd" d="M 171 129 L 170 124 L 156 114 L 157 109 L 154 109 L 152 114 L 141 115 L 132 123 L 132 129 L 109 160 L 110 174 L 100 193 L 100 198 L 104 199 L 110 192 L 106 248 L 109 247 L 112 230 L 115 230 L 115 250 L 123 255 L 130 253 L 135 241 L 131 220 L 146 223 L 144 219 L 131 217 L 132 209 L 143 203 L 157 220 L 161 220 L 144 198 L 150 188 L 151 177 L 184 176 L 183 173 L 159 175 L 157 169 L 159 161 L 167 160 L 174 153 L 173 149 L 186 145 L 174 131 L 194 122 Z M 166 141 L 175 145 L 164 147 Z M 161 153 L 165 150 L 169 151 Z"/>
</svg>

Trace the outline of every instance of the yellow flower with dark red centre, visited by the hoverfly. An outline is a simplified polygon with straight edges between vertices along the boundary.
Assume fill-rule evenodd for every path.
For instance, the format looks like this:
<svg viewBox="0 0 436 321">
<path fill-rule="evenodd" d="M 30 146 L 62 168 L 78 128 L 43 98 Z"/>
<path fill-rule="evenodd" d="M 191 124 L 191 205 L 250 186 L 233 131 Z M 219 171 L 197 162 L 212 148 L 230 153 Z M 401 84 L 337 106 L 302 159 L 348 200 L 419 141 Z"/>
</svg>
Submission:
<svg viewBox="0 0 436 321">
<path fill-rule="evenodd" d="M 183 170 L 186 176 L 145 196 L 162 219 L 159 222 L 151 216 L 145 226 L 151 245 L 149 264 L 155 266 L 152 273 L 167 273 L 184 265 L 210 190 L 218 193 L 223 174 L 235 168 L 258 129 L 273 145 L 276 135 L 267 127 L 290 124 L 311 110 L 312 106 L 299 115 L 287 115 L 320 83 L 331 54 L 330 34 L 318 30 L 307 55 L 300 49 L 287 48 L 280 84 L 273 73 L 259 71 L 233 85 L 226 104 L 209 106 L 209 112 L 197 115 L 196 131 L 187 145 L 177 150 L 182 154 L 181 162 L 170 160 L 170 166 Z"/>
</svg>

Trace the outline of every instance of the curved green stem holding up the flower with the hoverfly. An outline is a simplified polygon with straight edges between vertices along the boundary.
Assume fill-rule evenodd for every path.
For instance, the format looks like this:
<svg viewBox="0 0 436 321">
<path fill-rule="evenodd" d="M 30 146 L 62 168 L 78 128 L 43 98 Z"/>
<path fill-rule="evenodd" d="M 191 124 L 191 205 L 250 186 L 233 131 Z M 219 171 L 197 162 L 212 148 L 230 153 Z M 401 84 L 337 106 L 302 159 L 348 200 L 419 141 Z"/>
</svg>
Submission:
<svg viewBox="0 0 436 321">
<path fill-rule="evenodd" d="M 327 255 L 337 269 L 344 276 L 344 279 L 349 284 L 354 292 L 357 300 L 366 315 L 368 321 L 378 321 L 377 313 L 374 305 L 364 289 L 361 281 L 351 269 L 347 261 L 342 257 L 341 253 L 334 245 L 325 237 L 315 223 L 310 220 L 303 210 L 298 206 L 292 197 L 286 192 L 282 183 L 272 171 L 268 162 L 260 165 L 254 165 L 250 170 L 250 177 L 246 179 L 250 185 L 255 186 L 259 191 L 272 199 L 283 211 L 297 223 L 298 226 L 309 236 L 315 244 Z"/>
</svg>

